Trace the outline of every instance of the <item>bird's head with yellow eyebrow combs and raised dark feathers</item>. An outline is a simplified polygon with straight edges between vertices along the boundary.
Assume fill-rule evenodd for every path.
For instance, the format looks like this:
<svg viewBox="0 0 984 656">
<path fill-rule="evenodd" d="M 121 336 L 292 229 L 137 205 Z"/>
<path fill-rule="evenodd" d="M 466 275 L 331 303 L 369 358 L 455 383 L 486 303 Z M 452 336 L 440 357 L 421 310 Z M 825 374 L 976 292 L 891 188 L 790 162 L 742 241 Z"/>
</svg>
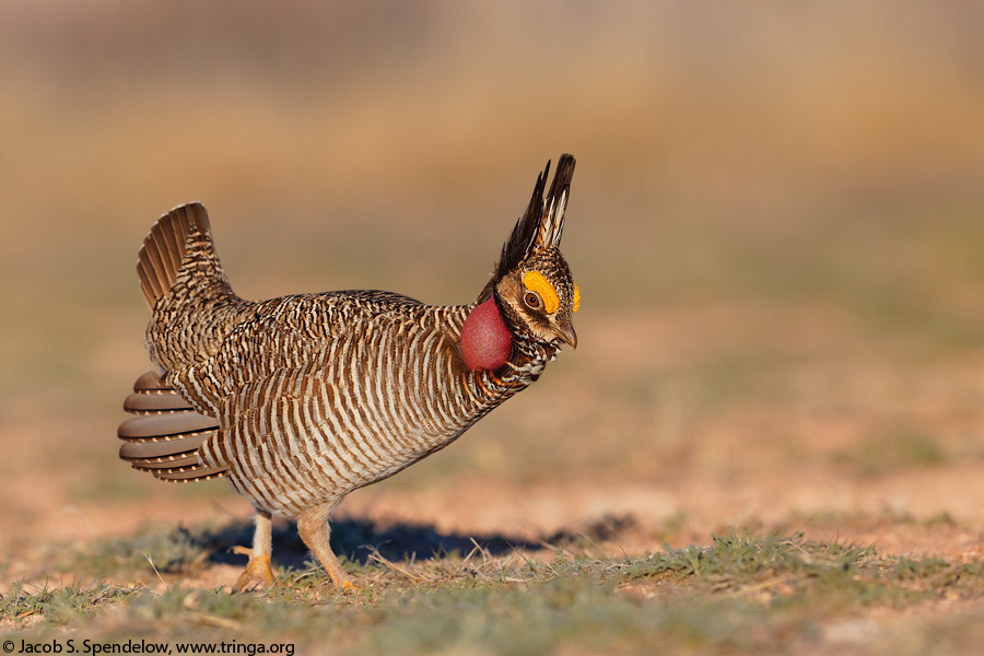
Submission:
<svg viewBox="0 0 984 656">
<path fill-rule="evenodd" d="M 535 342 L 552 354 L 562 343 L 577 347 L 573 318 L 581 305 L 581 294 L 560 251 L 574 157 L 561 156 L 553 183 L 544 196 L 549 173 L 548 162 L 537 178 L 526 213 L 516 222 L 503 246 L 492 279 L 479 295 L 479 307 L 472 314 L 484 317 L 478 311 L 491 307 L 485 304 L 492 301 L 499 309 L 495 315 L 501 315 L 512 336 Z M 491 312 L 487 314 L 490 318 L 482 318 L 483 323 L 490 326 L 496 323 L 496 316 Z M 480 340 L 478 343 L 482 344 Z"/>
</svg>

